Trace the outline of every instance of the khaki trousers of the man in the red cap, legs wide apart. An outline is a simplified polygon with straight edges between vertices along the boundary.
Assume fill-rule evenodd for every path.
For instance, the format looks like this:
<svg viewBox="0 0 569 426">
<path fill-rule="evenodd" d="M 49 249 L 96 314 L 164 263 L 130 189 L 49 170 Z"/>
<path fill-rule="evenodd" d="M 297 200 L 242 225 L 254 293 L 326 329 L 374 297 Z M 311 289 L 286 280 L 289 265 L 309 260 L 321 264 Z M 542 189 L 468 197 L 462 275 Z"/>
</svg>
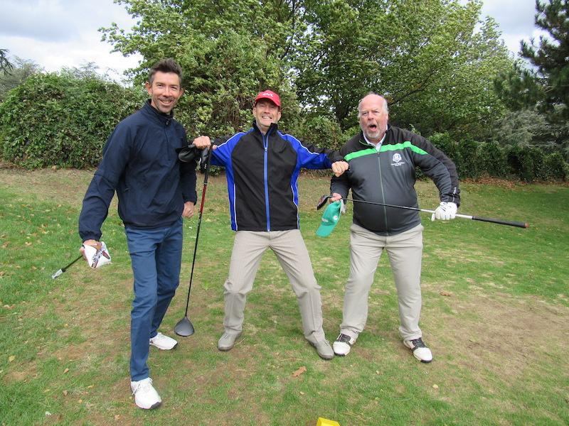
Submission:
<svg viewBox="0 0 569 426">
<path fill-rule="evenodd" d="M 312 263 L 298 229 L 289 231 L 237 231 L 231 253 L 229 276 L 225 280 L 225 332 L 241 332 L 245 300 L 265 250 L 271 249 L 287 274 L 297 295 L 304 337 L 316 343 L 325 339 L 322 329 L 320 286 L 314 278 Z"/>
</svg>

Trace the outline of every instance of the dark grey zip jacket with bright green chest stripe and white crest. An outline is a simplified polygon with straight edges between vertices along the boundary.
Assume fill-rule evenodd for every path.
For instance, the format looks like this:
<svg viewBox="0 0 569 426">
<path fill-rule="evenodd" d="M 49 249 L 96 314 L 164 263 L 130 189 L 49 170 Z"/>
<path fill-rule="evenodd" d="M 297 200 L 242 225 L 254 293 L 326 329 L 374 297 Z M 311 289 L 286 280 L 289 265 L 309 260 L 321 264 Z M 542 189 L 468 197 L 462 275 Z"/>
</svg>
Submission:
<svg viewBox="0 0 569 426">
<path fill-rule="evenodd" d="M 440 200 L 460 205 L 457 168 L 427 139 L 388 126 L 379 152 L 360 132 L 340 149 L 350 168 L 332 178 L 330 190 L 354 200 L 418 208 L 415 168 L 430 177 Z M 419 212 L 361 202 L 353 203 L 353 223 L 379 235 L 399 234 L 421 223 Z"/>
</svg>

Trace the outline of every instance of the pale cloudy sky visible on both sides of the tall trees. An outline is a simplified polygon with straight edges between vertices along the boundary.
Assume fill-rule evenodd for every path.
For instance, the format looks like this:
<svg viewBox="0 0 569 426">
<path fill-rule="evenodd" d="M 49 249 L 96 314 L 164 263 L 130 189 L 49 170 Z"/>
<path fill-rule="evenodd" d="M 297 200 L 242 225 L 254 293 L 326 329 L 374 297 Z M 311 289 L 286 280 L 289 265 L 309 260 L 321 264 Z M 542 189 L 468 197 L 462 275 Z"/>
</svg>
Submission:
<svg viewBox="0 0 569 426">
<path fill-rule="evenodd" d="M 512 53 L 518 53 L 521 39 L 538 38 L 534 0 L 484 0 L 482 13 L 496 19 Z M 2 0 L 0 48 L 47 71 L 95 62 L 100 72 L 119 80 L 140 56 L 110 53 L 112 45 L 102 42 L 97 30 L 112 22 L 127 30 L 134 23 L 124 6 L 112 0 Z"/>
</svg>

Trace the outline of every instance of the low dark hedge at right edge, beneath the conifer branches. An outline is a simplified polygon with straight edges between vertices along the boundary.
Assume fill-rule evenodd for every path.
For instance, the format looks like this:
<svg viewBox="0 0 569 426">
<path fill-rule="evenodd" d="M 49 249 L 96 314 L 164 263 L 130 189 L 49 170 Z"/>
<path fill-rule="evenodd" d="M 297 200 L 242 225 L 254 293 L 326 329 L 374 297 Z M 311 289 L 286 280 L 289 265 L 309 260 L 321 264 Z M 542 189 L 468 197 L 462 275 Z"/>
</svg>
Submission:
<svg viewBox="0 0 569 426">
<path fill-rule="evenodd" d="M 557 152 L 546 154 L 534 146 L 501 146 L 497 142 L 457 142 L 448 133 L 435 133 L 429 141 L 454 161 L 460 178 L 488 175 L 526 182 L 569 178 L 569 164 Z"/>
</svg>

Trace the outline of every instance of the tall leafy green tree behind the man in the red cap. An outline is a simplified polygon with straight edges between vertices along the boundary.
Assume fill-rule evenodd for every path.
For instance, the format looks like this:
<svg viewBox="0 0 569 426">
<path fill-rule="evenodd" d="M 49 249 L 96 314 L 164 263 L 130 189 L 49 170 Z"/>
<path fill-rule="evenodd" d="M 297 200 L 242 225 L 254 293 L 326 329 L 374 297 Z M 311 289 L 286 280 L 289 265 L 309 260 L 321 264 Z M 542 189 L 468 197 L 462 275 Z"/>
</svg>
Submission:
<svg viewBox="0 0 569 426">
<path fill-rule="evenodd" d="M 139 20 L 132 32 L 116 24 L 101 28 L 114 50 L 141 53 L 144 62 L 131 70 L 142 84 L 147 70 L 162 58 L 184 69 L 184 89 L 176 116 L 190 134 L 227 134 L 250 123 L 252 98 L 262 89 L 280 92 L 285 124 L 297 111 L 287 79 L 289 40 L 300 31 L 296 0 L 225 1 L 119 0 Z"/>
</svg>

